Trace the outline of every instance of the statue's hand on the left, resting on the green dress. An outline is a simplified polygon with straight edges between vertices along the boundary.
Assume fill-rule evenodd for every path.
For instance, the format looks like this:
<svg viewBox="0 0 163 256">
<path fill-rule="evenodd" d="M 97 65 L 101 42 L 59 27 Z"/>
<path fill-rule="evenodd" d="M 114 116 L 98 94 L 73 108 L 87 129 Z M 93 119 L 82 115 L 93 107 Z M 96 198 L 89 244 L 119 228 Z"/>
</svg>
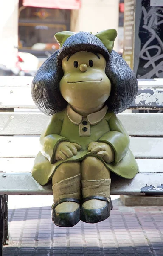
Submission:
<svg viewBox="0 0 163 256">
<path fill-rule="evenodd" d="M 56 152 L 54 155 L 54 160 L 66 160 L 67 158 L 75 156 L 77 151 L 81 150 L 81 146 L 77 143 L 71 143 L 67 141 L 62 141 L 58 144 Z"/>
</svg>

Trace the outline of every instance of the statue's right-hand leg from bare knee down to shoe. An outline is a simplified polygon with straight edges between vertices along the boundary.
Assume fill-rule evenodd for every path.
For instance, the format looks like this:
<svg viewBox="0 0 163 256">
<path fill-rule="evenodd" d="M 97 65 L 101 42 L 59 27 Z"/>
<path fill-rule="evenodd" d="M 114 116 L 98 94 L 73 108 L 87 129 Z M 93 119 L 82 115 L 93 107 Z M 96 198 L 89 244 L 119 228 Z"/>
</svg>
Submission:
<svg viewBox="0 0 163 256">
<path fill-rule="evenodd" d="M 110 216 L 110 183 L 110 171 L 101 160 L 87 157 L 82 161 L 82 221 L 96 223 Z"/>
</svg>

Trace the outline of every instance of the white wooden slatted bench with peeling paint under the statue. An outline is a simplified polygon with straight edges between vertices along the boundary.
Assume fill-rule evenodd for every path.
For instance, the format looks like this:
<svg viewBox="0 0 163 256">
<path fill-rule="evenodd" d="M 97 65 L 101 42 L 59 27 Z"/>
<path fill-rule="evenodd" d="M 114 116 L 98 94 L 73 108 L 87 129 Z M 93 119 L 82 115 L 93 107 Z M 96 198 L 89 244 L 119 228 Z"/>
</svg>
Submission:
<svg viewBox="0 0 163 256">
<path fill-rule="evenodd" d="M 0 256 L 8 239 L 7 195 L 52 194 L 31 175 L 39 136 L 50 117 L 31 99 L 31 77 L 0 77 Z M 138 79 L 130 109 L 163 110 L 163 79 Z M 163 195 L 163 114 L 121 113 L 140 173 L 132 180 L 112 175 L 112 195 Z M 6 228 L 5 228 L 6 227 Z M 4 231 L 5 230 L 5 231 Z"/>
</svg>

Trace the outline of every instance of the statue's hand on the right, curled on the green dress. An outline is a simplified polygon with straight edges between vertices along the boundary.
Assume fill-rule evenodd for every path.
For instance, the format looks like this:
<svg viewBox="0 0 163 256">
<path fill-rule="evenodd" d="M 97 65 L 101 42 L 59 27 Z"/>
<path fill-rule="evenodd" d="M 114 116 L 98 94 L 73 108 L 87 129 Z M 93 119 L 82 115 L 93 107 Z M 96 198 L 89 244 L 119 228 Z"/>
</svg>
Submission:
<svg viewBox="0 0 163 256">
<path fill-rule="evenodd" d="M 107 143 L 92 141 L 88 145 L 88 151 L 102 157 L 106 163 L 111 163 L 115 160 L 114 150 Z"/>
</svg>

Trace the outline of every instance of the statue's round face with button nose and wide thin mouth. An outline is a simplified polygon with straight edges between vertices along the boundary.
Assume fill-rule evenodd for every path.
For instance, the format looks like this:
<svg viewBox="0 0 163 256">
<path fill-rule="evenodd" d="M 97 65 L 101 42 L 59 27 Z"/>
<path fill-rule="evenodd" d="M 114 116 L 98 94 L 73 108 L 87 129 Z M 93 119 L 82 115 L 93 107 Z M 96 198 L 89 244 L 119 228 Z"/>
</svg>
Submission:
<svg viewBox="0 0 163 256">
<path fill-rule="evenodd" d="M 92 52 L 77 52 L 64 58 L 64 76 L 60 81 L 63 98 L 70 105 L 82 109 L 104 104 L 111 90 L 105 67 L 105 58 Z"/>
</svg>

